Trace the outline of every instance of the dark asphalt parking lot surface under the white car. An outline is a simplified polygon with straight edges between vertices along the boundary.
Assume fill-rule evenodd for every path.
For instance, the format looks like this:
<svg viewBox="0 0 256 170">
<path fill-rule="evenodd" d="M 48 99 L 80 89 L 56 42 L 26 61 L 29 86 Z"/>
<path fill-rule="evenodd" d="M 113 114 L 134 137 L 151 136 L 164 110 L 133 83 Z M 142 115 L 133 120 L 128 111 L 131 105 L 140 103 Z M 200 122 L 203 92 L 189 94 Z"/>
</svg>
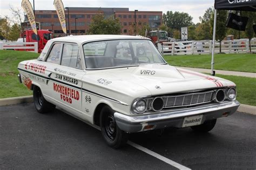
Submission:
<svg viewBox="0 0 256 170">
<path fill-rule="evenodd" d="M 210 133 L 169 128 L 130 135 L 131 143 L 191 169 L 255 169 L 256 116 L 236 112 Z M 127 144 L 108 147 L 100 131 L 33 104 L 0 107 L 0 169 L 177 169 Z"/>
</svg>

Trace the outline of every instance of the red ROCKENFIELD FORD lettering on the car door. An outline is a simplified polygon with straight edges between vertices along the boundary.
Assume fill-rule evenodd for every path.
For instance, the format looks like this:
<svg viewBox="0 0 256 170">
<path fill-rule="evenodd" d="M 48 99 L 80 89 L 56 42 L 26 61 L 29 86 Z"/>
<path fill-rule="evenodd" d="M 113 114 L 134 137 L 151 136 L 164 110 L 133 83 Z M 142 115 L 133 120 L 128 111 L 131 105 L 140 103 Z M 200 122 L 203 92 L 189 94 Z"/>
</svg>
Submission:
<svg viewBox="0 0 256 170">
<path fill-rule="evenodd" d="M 79 92 L 69 87 L 53 83 L 53 90 L 60 93 L 60 99 L 72 104 L 72 99 L 79 100 Z"/>
</svg>

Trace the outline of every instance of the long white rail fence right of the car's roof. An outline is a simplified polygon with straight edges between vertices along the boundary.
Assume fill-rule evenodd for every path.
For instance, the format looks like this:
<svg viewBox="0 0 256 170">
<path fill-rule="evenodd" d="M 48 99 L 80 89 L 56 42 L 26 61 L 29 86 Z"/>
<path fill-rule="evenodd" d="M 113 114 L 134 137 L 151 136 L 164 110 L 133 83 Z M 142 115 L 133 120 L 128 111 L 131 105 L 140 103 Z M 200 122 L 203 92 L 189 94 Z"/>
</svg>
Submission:
<svg viewBox="0 0 256 170">
<path fill-rule="evenodd" d="M 219 53 L 219 42 L 215 42 L 215 53 Z M 256 52 L 256 39 L 251 40 L 252 52 Z M 158 44 L 158 50 L 164 55 L 198 55 L 211 54 L 212 40 L 192 40 L 183 42 L 163 42 Z M 221 52 L 248 53 L 250 52 L 249 40 L 223 40 Z"/>
</svg>

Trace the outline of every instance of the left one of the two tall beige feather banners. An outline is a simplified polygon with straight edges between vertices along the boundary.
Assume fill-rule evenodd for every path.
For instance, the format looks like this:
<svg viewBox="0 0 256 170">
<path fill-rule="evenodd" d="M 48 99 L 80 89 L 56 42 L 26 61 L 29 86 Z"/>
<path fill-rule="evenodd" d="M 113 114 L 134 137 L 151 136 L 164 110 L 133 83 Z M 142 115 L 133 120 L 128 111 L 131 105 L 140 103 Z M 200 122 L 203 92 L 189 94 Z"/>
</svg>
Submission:
<svg viewBox="0 0 256 170">
<path fill-rule="evenodd" d="M 37 35 L 37 29 L 36 29 L 36 18 L 32 9 L 32 5 L 29 2 L 29 0 L 22 0 L 22 8 L 25 11 L 26 15 L 29 18 L 30 25 L 32 27 L 32 30 Z"/>
</svg>

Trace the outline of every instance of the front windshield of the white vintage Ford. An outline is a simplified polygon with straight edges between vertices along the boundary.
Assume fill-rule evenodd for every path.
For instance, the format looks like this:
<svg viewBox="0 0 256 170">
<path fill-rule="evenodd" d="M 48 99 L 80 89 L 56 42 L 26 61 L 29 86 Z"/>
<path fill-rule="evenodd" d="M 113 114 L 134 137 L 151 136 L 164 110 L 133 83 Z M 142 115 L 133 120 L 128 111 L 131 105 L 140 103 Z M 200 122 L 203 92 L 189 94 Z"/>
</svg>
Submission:
<svg viewBox="0 0 256 170">
<path fill-rule="evenodd" d="M 164 59 L 150 40 L 120 39 L 83 45 L 86 69 L 163 64 Z"/>
</svg>

